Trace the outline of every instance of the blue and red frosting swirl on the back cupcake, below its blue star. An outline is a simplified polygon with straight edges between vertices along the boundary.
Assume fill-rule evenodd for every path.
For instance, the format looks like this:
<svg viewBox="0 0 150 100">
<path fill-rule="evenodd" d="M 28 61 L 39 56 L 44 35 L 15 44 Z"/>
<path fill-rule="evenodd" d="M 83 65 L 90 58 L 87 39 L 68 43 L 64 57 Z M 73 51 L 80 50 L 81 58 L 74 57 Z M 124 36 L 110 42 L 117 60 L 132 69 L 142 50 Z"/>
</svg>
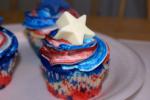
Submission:
<svg viewBox="0 0 150 100">
<path fill-rule="evenodd" d="M 28 29 L 43 29 L 47 27 L 56 27 L 56 20 L 66 10 L 69 11 L 72 15 L 78 17 L 78 13 L 71 8 L 60 8 L 57 13 L 53 13 L 53 10 L 51 10 L 49 7 L 42 6 L 36 10 L 25 12 L 25 20 L 23 24 Z"/>
</svg>

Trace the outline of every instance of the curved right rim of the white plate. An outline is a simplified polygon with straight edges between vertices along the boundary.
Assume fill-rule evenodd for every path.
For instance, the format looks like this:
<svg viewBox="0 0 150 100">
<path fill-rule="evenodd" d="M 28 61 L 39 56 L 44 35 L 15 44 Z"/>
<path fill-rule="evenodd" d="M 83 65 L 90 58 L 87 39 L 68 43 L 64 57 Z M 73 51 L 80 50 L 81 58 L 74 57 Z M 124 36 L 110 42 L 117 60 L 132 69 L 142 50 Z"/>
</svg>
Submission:
<svg viewBox="0 0 150 100">
<path fill-rule="evenodd" d="M 104 96 L 104 97 L 103 97 L 103 96 L 98 96 L 98 97 L 96 97 L 95 99 L 96 99 L 96 100 L 97 100 L 97 99 L 100 99 L 100 100 L 126 100 L 126 99 L 129 99 L 130 97 L 132 97 L 133 95 L 135 95 L 137 91 L 139 92 L 140 89 L 141 89 L 141 88 L 143 87 L 143 85 L 144 85 L 145 76 L 146 76 L 146 73 L 143 73 L 143 72 L 146 72 L 145 63 L 144 63 L 142 57 L 138 54 L 138 52 L 135 51 L 133 48 L 129 47 L 128 45 L 126 45 L 126 44 L 120 42 L 120 41 L 117 40 L 117 39 L 114 39 L 114 38 L 112 38 L 112 37 L 109 37 L 109 36 L 107 36 L 107 35 L 105 35 L 105 34 L 103 34 L 103 33 L 98 33 L 98 36 L 100 36 L 100 37 L 101 37 L 101 36 L 102 36 L 102 37 L 106 37 L 107 39 L 109 39 L 109 41 L 113 41 L 113 42 L 117 43 L 118 45 L 121 45 L 121 46 L 125 47 L 125 48 L 128 49 L 130 52 L 132 52 L 132 54 L 136 56 L 136 58 L 140 61 L 141 65 L 142 65 L 142 66 L 138 66 L 138 68 L 137 68 L 137 69 L 138 69 L 138 73 L 140 73 L 140 75 L 142 75 L 142 76 L 141 76 L 142 78 L 139 78 L 139 79 L 141 79 L 140 82 L 139 82 L 139 84 L 137 85 L 136 88 L 134 88 L 134 90 L 130 91 L 130 93 L 124 92 L 124 90 L 123 90 L 123 91 L 120 91 L 119 96 L 113 95 L 113 96 L 111 96 L 111 98 L 110 98 L 110 97 L 105 98 L 105 96 Z M 103 39 L 103 38 L 102 38 L 102 39 Z M 103 40 L 107 40 L 107 39 L 103 39 Z M 138 75 L 138 73 L 136 73 L 136 75 Z M 140 76 L 140 75 L 138 75 L 138 76 Z M 107 79 L 106 79 L 106 80 L 107 80 Z M 134 81 L 135 81 L 135 80 L 134 80 Z M 130 83 L 131 83 L 131 82 L 130 82 Z M 104 84 L 105 84 L 105 82 L 104 82 Z M 132 86 L 133 86 L 133 84 L 130 84 L 130 87 L 132 87 Z M 126 90 L 126 91 L 127 91 L 127 90 Z M 124 95 L 125 93 L 126 93 L 126 96 Z M 124 96 L 123 96 L 123 95 L 124 95 Z M 95 100 L 95 99 L 94 99 L 94 100 Z"/>
</svg>

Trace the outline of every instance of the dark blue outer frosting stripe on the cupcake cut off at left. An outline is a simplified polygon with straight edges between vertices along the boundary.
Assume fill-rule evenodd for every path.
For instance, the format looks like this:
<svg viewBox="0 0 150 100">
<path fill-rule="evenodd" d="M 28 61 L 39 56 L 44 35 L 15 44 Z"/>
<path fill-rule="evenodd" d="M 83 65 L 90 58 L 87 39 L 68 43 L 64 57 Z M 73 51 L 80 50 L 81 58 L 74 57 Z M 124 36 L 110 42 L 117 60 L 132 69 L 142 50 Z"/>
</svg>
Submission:
<svg viewBox="0 0 150 100">
<path fill-rule="evenodd" d="M 18 41 L 17 38 L 11 33 L 10 31 L 6 30 L 3 27 L 0 27 L 0 31 L 4 34 L 7 34 L 12 39 L 10 46 L 8 46 L 7 49 L 5 49 L 3 52 L 0 53 L 0 59 L 3 58 L 9 58 L 11 57 L 15 52 L 17 52 L 18 49 Z"/>
</svg>

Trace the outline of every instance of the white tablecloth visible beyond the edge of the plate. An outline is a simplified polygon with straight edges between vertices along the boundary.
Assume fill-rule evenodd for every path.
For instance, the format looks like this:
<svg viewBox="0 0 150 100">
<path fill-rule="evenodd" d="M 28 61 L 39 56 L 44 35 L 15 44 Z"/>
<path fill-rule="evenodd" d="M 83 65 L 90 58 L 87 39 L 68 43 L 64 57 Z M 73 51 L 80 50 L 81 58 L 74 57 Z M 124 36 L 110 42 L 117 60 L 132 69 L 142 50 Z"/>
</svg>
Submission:
<svg viewBox="0 0 150 100">
<path fill-rule="evenodd" d="M 22 31 L 21 25 L 7 25 L 5 26 L 13 32 L 18 30 Z M 149 100 L 150 98 L 150 41 L 131 41 L 131 40 L 119 40 L 123 44 L 132 48 L 143 59 L 146 66 L 146 80 L 144 86 L 138 91 L 132 98 L 132 100 Z"/>
</svg>

